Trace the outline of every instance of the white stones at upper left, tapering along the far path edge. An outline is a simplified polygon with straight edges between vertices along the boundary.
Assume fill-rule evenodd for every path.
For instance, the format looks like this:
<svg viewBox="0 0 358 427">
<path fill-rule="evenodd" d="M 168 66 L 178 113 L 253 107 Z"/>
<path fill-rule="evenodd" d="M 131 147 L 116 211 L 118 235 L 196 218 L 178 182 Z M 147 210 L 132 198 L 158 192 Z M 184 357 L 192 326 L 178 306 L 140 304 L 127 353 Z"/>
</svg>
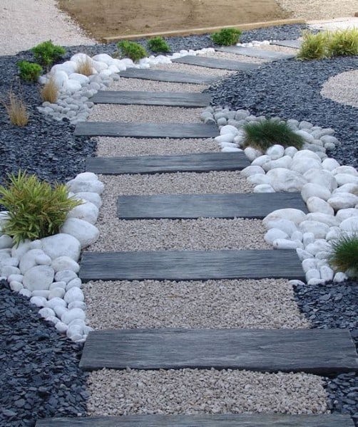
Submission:
<svg viewBox="0 0 358 427">
<path fill-rule="evenodd" d="M 55 120 L 61 121 L 67 118 L 73 125 L 87 119 L 93 102 L 91 97 L 98 90 L 106 90 L 113 80 L 118 80 L 120 71 L 127 68 L 150 68 L 152 65 L 168 64 L 172 59 L 181 56 L 197 55 L 214 51 L 213 48 L 204 48 L 200 51 L 180 51 L 170 56 L 149 56 L 140 59 L 138 63 L 133 63 L 129 58 L 113 58 L 107 53 L 100 53 L 92 58 L 86 53 L 76 53 L 70 60 L 64 63 L 53 65 L 47 75 L 41 76 L 39 82 L 46 84 L 52 79 L 56 84 L 59 95 L 54 103 L 43 102 L 38 107 L 40 112 L 51 115 Z M 92 65 L 91 75 L 78 73 L 81 63 L 89 61 Z"/>
</svg>

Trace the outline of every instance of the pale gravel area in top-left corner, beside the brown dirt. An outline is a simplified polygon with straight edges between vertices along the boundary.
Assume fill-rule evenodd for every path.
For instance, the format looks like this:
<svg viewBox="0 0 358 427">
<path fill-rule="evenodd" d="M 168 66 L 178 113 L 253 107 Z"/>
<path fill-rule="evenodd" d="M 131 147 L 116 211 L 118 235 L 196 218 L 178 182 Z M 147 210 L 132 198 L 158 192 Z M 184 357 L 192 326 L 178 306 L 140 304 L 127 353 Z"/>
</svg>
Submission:
<svg viewBox="0 0 358 427">
<path fill-rule="evenodd" d="M 15 55 L 46 40 L 62 46 L 93 45 L 55 0 L 0 0 L 0 55 Z"/>
</svg>

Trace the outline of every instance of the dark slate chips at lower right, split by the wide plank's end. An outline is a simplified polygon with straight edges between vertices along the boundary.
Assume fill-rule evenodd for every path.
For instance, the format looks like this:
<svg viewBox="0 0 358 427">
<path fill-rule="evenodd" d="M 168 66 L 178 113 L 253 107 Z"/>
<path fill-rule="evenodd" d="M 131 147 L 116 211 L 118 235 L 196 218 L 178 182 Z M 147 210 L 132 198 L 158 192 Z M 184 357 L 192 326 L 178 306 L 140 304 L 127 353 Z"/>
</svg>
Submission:
<svg viewBox="0 0 358 427">
<path fill-rule="evenodd" d="M 297 285 L 295 297 L 300 310 L 319 329 L 347 328 L 358 347 L 358 281 Z M 354 372 L 327 379 L 329 409 L 348 413 L 358 426 L 358 376 Z"/>
</svg>

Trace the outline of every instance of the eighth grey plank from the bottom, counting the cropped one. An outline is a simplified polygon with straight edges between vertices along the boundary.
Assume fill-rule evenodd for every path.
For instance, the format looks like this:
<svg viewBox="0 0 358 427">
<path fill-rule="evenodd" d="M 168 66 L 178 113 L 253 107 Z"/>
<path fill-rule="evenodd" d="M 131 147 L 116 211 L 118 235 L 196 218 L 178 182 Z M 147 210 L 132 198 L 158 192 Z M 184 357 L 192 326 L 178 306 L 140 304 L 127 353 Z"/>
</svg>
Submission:
<svg viewBox="0 0 358 427">
<path fill-rule="evenodd" d="M 157 80 L 169 83 L 191 83 L 195 85 L 211 85 L 218 78 L 208 77 L 207 75 L 198 75 L 190 73 L 180 73 L 179 71 L 167 70 L 143 70 L 142 68 L 128 68 L 119 73 L 125 78 L 141 78 L 143 80 Z"/>
</svg>

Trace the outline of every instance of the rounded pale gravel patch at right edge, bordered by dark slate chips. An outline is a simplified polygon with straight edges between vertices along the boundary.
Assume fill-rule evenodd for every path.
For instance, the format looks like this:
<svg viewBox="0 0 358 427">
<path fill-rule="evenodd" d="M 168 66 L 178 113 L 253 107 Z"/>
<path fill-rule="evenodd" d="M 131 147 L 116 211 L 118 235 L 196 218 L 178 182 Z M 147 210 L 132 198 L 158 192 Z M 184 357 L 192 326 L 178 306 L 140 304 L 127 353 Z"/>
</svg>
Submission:
<svg viewBox="0 0 358 427">
<path fill-rule="evenodd" d="M 329 78 L 322 86 L 321 95 L 339 104 L 358 107 L 358 70 L 347 71 Z"/>
</svg>

